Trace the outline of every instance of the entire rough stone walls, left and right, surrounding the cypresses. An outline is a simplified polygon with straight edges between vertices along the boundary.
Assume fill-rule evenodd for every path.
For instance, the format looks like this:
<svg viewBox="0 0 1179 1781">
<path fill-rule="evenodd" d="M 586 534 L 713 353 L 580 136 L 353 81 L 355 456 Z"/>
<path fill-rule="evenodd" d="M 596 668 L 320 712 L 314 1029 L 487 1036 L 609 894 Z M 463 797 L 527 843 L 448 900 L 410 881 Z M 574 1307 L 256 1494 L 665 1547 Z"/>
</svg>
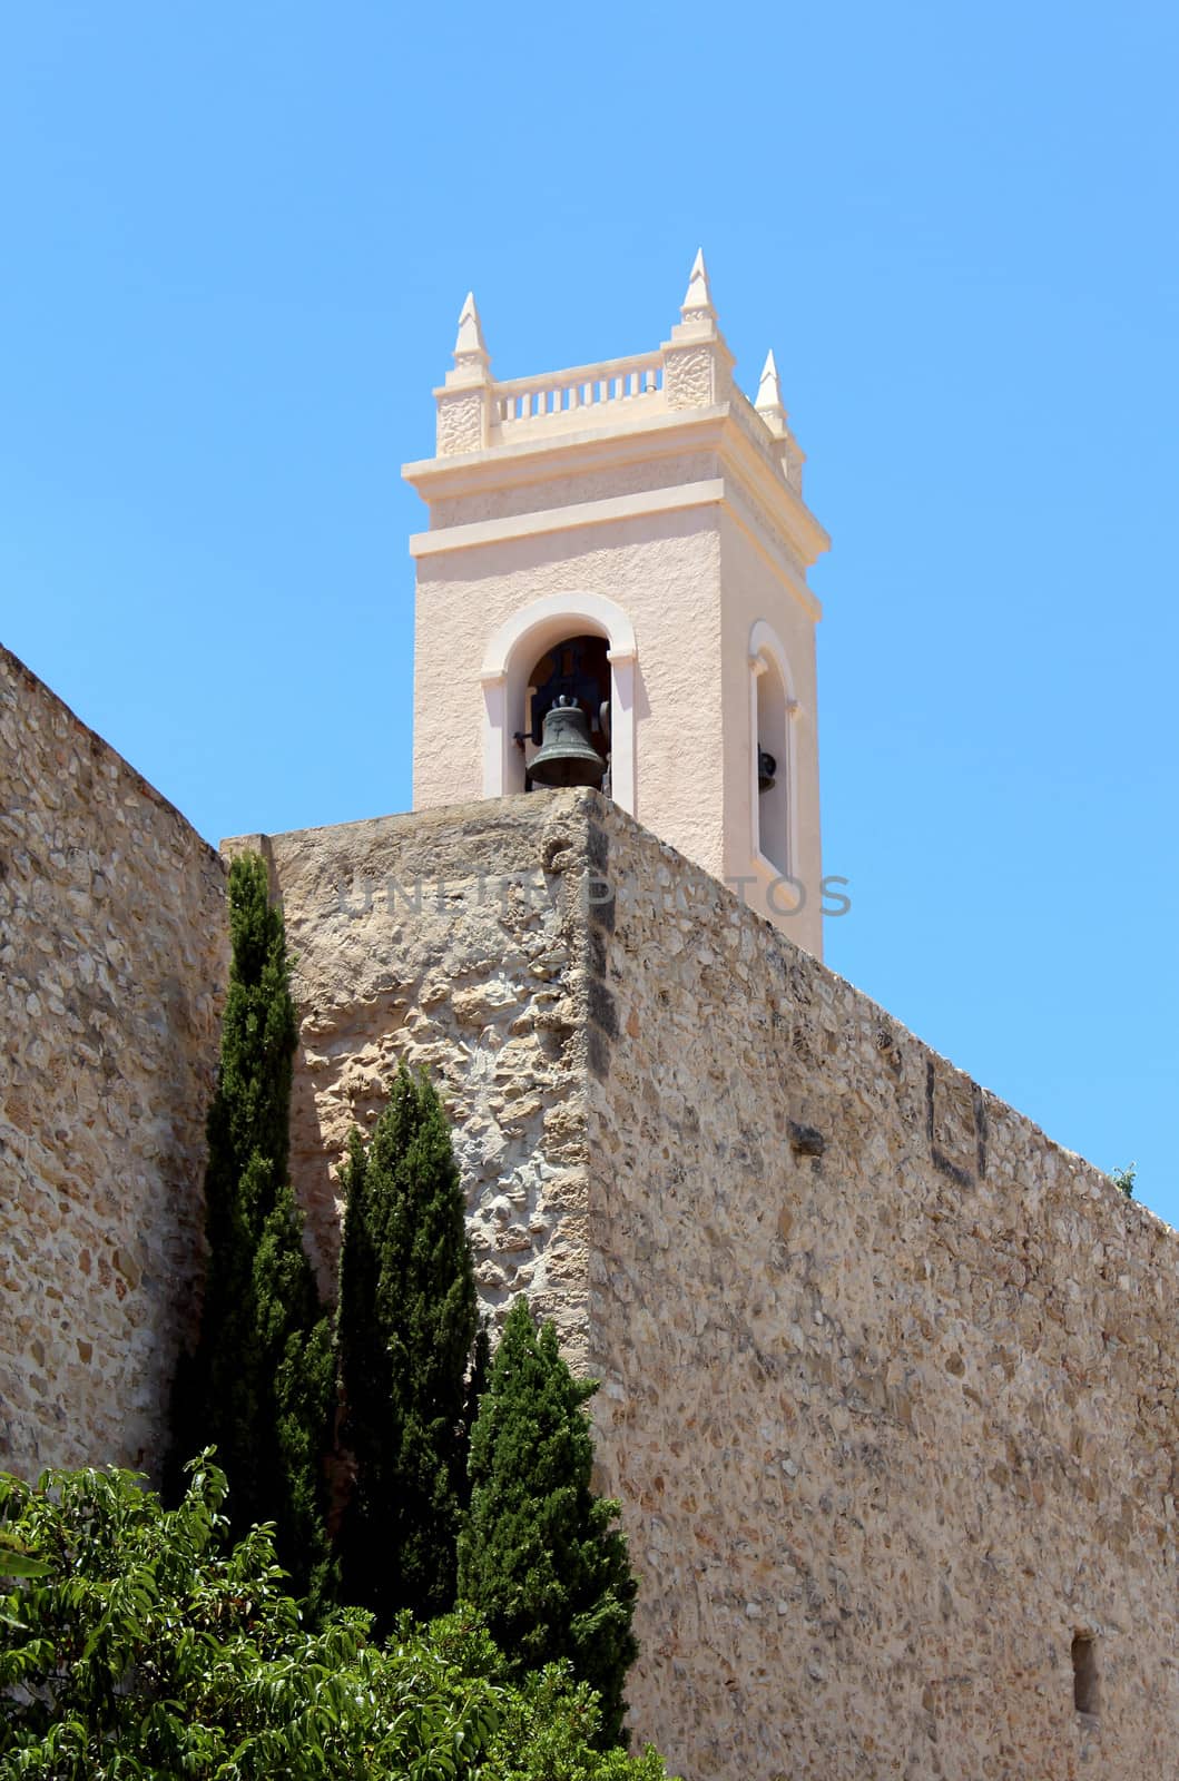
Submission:
<svg viewBox="0 0 1179 1781">
<path fill-rule="evenodd" d="M 151 1460 L 223 867 L 7 657 L 4 698 L 7 1457 Z M 636 1731 L 689 1781 L 1170 1774 L 1175 1232 L 595 793 L 244 839 L 324 1282 L 420 1060 L 484 1300 L 602 1378 Z"/>
</svg>

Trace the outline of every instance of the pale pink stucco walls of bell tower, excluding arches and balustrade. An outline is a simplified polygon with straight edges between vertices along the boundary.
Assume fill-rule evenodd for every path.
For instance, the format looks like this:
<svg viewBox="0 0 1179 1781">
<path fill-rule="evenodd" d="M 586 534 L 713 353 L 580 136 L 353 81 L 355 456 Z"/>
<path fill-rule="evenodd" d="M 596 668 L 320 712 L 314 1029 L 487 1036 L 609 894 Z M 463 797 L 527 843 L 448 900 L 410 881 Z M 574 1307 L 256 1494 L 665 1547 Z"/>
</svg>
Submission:
<svg viewBox="0 0 1179 1781">
<path fill-rule="evenodd" d="M 698 358 L 711 390 L 712 353 L 696 344 L 677 354 L 677 378 Z M 668 390 L 671 370 L 670 362 Z M 691 379 L 686 390 L 686 411 L 700 408 L 702 390 L 691 394 Z M 481 680 L 488 639 L 536 602 L 561 600 L 570 604 L 568 634 L 577 634 L 584 629 L 573 616 L 577 600 L 607 598 L 627 614 L 638 645 L 632 737 L 625 703 L 616 711 L 623 748 L 632 741 L 634 789 L 627 778 L 616 796 L 718 878 L 732 885 L 753 874 L 746 894 L 759 912 L 821 956 L 817 604 L 805 584 L 801 543 L 791 543 L 785 516 L 778 524 L 769 511 L 775 500 L 789 508 L 794 499 L 782 481 L 778 445 L 736 392 L 730 408 L 739 415 L 736 431 L 725 420 L 728 410 L 707 410 L 711 451 L 677 449 L 645 433 L 634 410 L 613 404 L 593 451 L 582 442 L 563 454 L 563 436 L 554 433 L 547 452 L 538 436 L 522 467 L 492 445 L 436 486 L 431 467 L 411 467 L 431 520 L 415 543 L 413 801 L 433 809 L 511 789 L 516 757 L 508 748 L 499 766 L 502 736 L 524 728 L 522 687 L 533 661 L 508 666 L 502 696 L 511 709 L 500 718 L 500 695 Z M 743 445 L 750 431 L 755 465 Z M 750 476 L 759 481 L 757 495 Z M 666 511 L 663 495 L 686 504 Z M 590 518 L 588 504 L 611 500 L 630 511 Z M 484 531 L 472 536 L 470 527 Z M 753 839 L 750 630 L 759 620 L 782 639 L 798 696 L 791 723 L 798 839 L 789 860 L 793 880 L 805 885 L 798 914 L 798 890 L 778 880 L 778 869 L 762 871 Z M 497 762 L 490 787 L 488 759 Z"/>
</svg>

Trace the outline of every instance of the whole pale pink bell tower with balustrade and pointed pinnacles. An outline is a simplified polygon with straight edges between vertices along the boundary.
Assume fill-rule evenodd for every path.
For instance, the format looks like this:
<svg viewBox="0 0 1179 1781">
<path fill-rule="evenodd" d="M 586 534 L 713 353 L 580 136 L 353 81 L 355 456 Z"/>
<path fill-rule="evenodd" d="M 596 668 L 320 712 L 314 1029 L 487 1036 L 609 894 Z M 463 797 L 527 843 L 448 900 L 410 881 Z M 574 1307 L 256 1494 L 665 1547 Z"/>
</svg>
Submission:
<svg viewBox="0 0 1179 1781">
<path fill-rule="evenodd" d="M 830 540 L 773 353 L 755 403 L 732 367 L 700 253 L 663 346 L 538 378 L 492 376 L 467 297 L 435 456 L 402 470 L 429 508 L 413 803 L 602 784 L 821 956 Z"/>
</svg>

